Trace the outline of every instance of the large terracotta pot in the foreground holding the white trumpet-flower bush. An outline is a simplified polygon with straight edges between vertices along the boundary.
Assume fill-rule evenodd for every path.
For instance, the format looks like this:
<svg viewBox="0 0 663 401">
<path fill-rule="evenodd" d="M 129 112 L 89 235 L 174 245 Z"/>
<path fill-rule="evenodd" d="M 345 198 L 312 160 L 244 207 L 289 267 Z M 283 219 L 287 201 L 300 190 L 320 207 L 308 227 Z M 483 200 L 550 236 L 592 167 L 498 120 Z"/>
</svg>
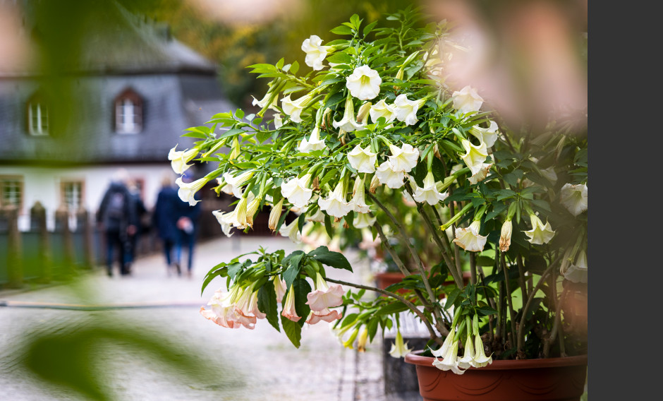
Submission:
<svg viewBox="0 0 663 401">
<path fill-rule="evenodd" d="M 493 361 L 457 375 L 437 369 L 421 352 L 405 361 L 416 366 L 424 401 L 579 401 L 585 390 L 587 355 Z"/>
</svg>

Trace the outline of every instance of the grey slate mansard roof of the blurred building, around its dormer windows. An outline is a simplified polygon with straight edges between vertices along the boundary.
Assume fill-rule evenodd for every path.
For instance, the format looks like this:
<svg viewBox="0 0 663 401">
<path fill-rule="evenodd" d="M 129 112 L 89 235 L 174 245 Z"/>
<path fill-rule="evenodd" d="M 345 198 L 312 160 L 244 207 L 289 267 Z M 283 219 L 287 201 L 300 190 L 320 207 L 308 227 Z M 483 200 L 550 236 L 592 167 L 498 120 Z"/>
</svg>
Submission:
<svg viewBox="0 0 663 401">
<path fill-rule="evenodd" d="M 0 164 L 167 162 L 166 155 L 197 140 L 181 138 L 213 114 L 235 106 L 224 97 L 217 68 L 174 39 L 118 8 L 126 23 L 87 35 L 82 62 L 67 88 L 78 102 L 49 97 L 49 119 L 64 127 L 50 136 L 28 133 L 27 102 L 44 90 L 35 71 L 0 71 Z M 102 51 L 99 51 L 102 49 Z M 143 100 L 143 130 L 114 131 L 114 100 L 131 88 Z M 52 107 L 51 107 L 52 106 Z M 71 118 L 63 121 L 71 112 Z"/>
</svg>

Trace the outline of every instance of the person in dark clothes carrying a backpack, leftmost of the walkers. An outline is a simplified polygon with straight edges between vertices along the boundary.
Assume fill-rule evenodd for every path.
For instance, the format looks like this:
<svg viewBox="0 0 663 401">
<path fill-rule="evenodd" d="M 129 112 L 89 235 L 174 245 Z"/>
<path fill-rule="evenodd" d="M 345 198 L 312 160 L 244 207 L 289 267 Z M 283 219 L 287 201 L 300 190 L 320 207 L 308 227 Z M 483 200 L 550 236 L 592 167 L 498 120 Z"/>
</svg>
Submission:
<svg viewBox="0 0 663 401">
<path fill-rule="evenodd" d="M 130 193 L 126 187 L 127 180 L 126 170 L 118 169 L 97 210 L 97 225 L 106 237 L 106 268 L 109 277 L 113 275 L 115 249 L 118 249 L 120 274 L 130 274 L 126 253 L 130 246 L 129 236 L 136 232 L 136 217 L 135 207 L 130 201 Z"/>
</svg>

